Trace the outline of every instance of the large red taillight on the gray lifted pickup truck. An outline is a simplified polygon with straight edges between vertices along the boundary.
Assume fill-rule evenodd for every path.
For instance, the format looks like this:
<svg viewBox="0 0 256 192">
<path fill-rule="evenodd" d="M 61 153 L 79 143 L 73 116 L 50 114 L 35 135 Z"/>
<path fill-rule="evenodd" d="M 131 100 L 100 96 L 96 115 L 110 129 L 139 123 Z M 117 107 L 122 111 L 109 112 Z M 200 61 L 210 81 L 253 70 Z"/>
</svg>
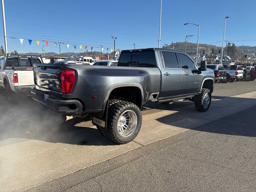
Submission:
<svg viewBox="0 0 256 192">
<path fill-rule="evenodd" d="M 63 93 L 71 93 L 76 82 L 76 72 L 73 70 L 63 70 L 61 72 L 61 85 Z"/>
</svg>

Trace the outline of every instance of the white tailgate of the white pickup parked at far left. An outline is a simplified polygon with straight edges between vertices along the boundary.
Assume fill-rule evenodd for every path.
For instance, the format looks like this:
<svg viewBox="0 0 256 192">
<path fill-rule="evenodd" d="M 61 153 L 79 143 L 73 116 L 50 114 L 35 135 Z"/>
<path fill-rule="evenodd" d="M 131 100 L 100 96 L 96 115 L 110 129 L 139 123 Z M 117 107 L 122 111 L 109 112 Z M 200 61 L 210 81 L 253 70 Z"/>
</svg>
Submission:
<svg viewBox="0 0 256 192">
<path fill-rule="evenodd" d="M 16 67 L 15 73 L 18 74 L 18 85 L 34 85 L 34 71 L 33 68 Z"/>
</svg>

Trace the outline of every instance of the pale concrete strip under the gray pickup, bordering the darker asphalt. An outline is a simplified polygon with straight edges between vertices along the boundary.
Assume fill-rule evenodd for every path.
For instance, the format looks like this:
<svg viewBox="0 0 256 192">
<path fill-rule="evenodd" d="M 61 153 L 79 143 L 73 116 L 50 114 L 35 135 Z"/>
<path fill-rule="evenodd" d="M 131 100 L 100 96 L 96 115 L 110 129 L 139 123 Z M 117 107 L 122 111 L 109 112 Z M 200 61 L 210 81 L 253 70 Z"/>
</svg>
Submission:
<svg viewBox="0 0 256 192">
<path fill-rule="evenodd" d="M 88 168 L 153 142 L 208 124 L 256 105 L 256 92 L 212 101 L 208 112 L 194 105 L 143 116 L 142 129 L 133 142 L 116 145 L 83 122 L 71 131 L 41 140 L 16 138 L 0 141 L 0 189 L 19 191 Z M 161 104 L 160 104 L 161 105 Z M 31 122 L 32 123 L 32 122 Z M 54 126 L 54 125 L 53 125 Z M 28 133 L 29 134 L 29 133 Z M 51 142 L 48 142 L 48 141 Z"/>
</svg>

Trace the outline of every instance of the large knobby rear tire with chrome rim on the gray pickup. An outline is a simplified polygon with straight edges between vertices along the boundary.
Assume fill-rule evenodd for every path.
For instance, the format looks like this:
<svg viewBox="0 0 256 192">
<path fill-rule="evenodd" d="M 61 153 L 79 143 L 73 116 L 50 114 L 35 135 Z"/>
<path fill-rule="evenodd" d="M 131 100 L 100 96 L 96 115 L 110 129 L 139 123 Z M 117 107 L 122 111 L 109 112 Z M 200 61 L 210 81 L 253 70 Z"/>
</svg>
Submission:
<svg viewBox="0 0 256 192">
<path fill-rule="evenodd" d="M 109 103 L 112 103 L 112 100 Z M 105 134 L 117 144 L 125 144 L 134 140 L 140 131 L 141 124 L 142 115 L 138 106 L 119 100 L 108 107 Z"/>
</svg>

